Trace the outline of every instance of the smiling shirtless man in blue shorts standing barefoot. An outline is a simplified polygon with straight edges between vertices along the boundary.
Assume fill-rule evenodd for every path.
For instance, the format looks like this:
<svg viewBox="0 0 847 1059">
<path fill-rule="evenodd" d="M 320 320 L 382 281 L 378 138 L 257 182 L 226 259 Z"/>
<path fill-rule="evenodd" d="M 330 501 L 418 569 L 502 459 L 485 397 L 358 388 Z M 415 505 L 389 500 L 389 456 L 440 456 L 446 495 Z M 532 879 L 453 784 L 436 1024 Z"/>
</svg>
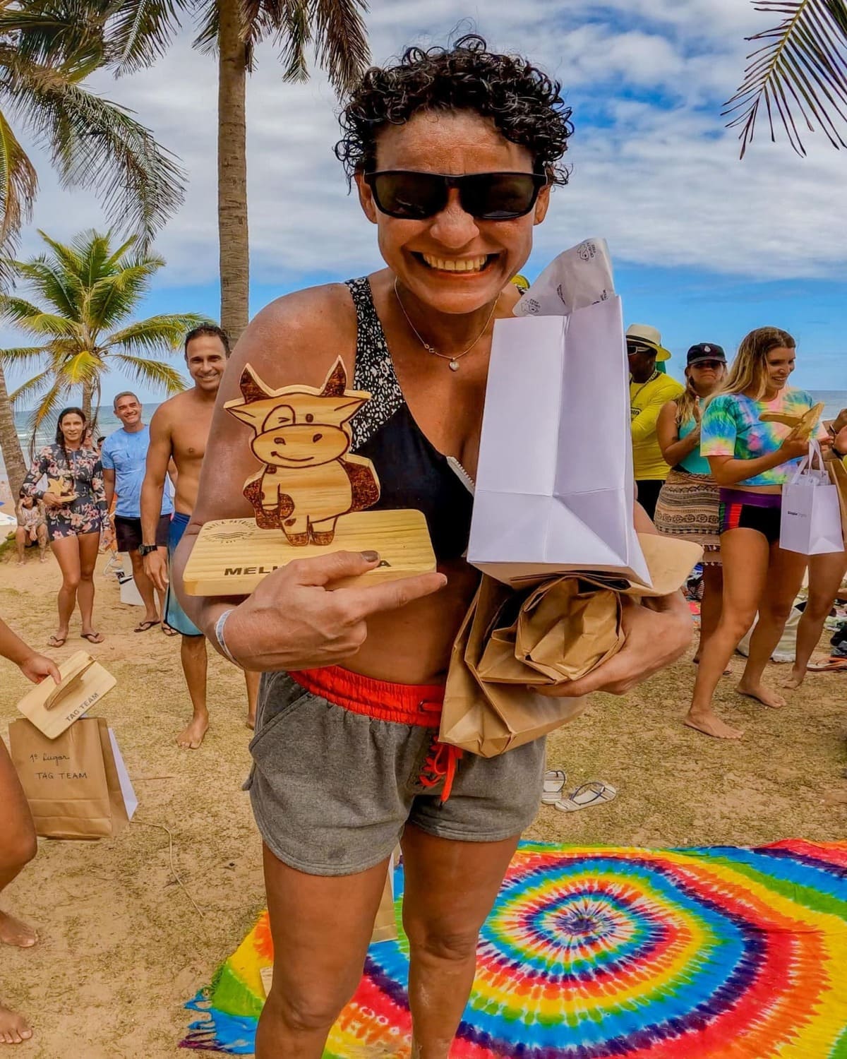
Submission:
<svg viewBox="0 0 847 1059">
<path fill-rule="evenodd" d="M 167 542 L 168 555 L 173 555 L 197 503 L 200 467 L 212 426 L 215 397 L 229 356 L 229 339 L 220 327 L 201 324 L 185 336 L 185 363 L 194 387 L 166 400 L 150 420 L 150 447 L 147 450 L 147 469 L 141 487 L 142 544 L 139 551 L 144 559 L 147 576 L 158 589 L 167 591 L 165 622 L 182 635 L 182 671 L 185 674 L 194 713 L 187 728 L 177 737 L 177 742 L 191 750 L 200 746 L 209 728 L 205 638 L 180 607 L 176 593 L 170 591 L 168 564 L 164 553 L 156 546 L 156 527 L 162 507 L 165 475 L 173 459 L 177 468 L 177 483 L 174 518 Z M 247 724 L 253 728 L 259 674 L 246 672 L 245 677 Z"/>
</svg>

